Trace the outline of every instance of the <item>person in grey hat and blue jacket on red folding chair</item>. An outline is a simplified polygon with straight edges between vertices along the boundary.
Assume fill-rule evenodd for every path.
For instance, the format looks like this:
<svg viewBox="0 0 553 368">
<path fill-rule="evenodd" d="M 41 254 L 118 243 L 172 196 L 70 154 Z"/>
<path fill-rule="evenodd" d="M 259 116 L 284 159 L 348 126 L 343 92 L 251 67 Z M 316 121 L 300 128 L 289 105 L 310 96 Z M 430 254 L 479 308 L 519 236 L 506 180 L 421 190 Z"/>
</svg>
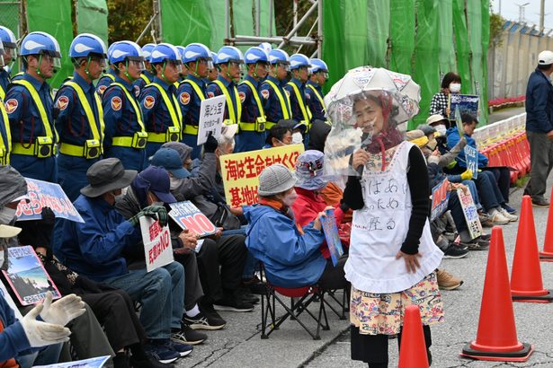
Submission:
<svg viewBox="0 0 553 368">
<path fill-rule="evenodd" d="M 248 220 L 246 245 L 265 267 L 267 280 L 273 285 L 300 287 L 319 285 L 340 289 L 347 285 L 343 274 L 346 258 L 338 265 L 325 259 L 319 250 L 325 234 L 321 212 L 301 228 L 294 219 L 291 206 L 298 197 L 296 179 L 281 163 L 265 168 L 259 176 L 259 204 L 245 206 Z"/>
</svg>

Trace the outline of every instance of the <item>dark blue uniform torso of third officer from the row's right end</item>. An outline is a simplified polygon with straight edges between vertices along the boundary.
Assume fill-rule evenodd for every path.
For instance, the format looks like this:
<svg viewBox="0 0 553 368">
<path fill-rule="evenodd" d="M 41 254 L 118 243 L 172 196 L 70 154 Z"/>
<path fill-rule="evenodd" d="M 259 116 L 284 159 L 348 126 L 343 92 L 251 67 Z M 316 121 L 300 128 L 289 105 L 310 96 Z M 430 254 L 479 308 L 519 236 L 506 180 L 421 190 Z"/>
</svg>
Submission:
<svg viewBox="0 0 553 368">
<path fill-rule="evenodd" d="M 286 81 L 280 81 L 272 75 L 269 75 L 263 81 L 260 90 L 263 97 L 265 116 L 267 117 L 267 129 L 277 124 L 281 119 L 290 119 L 290 100 L 284 86 Z M 276 88 L 276 90 L 275 90 Z"/>
</svg>

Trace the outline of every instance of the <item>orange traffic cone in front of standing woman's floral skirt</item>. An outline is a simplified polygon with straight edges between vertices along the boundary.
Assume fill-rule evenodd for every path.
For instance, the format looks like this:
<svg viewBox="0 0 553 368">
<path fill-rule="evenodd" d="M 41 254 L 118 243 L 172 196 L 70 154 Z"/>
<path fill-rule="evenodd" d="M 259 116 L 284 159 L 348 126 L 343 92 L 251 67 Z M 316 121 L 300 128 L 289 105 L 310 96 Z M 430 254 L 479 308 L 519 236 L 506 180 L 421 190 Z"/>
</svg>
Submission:
<svg viewBox="0 0 553 368">
<path fill-rule="evenodd" d="M 428 368 L 421 311 L 416 305 L 406 307 L 399 348 L 398 368 Z"/>
</svg>

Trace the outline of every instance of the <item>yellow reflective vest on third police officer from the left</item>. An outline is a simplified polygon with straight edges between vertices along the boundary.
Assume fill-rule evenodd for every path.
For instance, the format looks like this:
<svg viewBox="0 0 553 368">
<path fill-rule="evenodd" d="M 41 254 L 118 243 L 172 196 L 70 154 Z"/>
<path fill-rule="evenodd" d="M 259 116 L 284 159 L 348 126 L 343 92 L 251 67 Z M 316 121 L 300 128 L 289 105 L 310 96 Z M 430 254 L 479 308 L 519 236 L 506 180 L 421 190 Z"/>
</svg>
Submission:
<svg viewBox="0 0 553 368">
<path fill-rule="evenodd" d="M 76 92 L 76 96 L 85 110 L 86 120 L 88 121 L 88 126 L 92 133 L 92 139 L 87 139 L 85 146 L 80 145 L 69 145 L 67 143 L 62 143 L 59 147 L 59 152 L 68 154 L 76 157 L 85 157 L 87 159 L 93 159 L 103 153 L 103 109 L 102 101 L 97 92 L 94 91 L 94 101 L 96 102 L 96 107 L 98 109 L 98 118 L 100 123 L 100 130 L 98 130 L 98 124 L 96 123 L 96 118 L 94 118 L 94 111 L 92 110 L 90 103 L 86 99 L 85 92 L 78 83 L 73 81 L 67 81 L 64 83 Z"/>
</svg>

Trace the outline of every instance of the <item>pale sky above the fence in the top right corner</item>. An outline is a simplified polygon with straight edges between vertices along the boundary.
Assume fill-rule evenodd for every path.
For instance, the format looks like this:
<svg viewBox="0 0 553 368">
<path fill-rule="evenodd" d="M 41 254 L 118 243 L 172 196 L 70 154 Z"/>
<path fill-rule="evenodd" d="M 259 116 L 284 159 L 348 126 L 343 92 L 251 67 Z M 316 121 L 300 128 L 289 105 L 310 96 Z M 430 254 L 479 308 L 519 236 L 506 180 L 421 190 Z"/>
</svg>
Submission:
<svg viewBox="0 0 553 368">
<path fill-rule="evenodd" d="M 491 0 L 494 13 L 499 13 L 499 4 L 501 3 L 501 16 L 509 21 L 519 20 L 519 7 L 517 4 L 526 4 L 524 6 L 524 18 L 530 24 L 540 25 L 540 0 Z M 553 28 L 553 1 L 545 0 L 544 27 Z"/>
</svg>

